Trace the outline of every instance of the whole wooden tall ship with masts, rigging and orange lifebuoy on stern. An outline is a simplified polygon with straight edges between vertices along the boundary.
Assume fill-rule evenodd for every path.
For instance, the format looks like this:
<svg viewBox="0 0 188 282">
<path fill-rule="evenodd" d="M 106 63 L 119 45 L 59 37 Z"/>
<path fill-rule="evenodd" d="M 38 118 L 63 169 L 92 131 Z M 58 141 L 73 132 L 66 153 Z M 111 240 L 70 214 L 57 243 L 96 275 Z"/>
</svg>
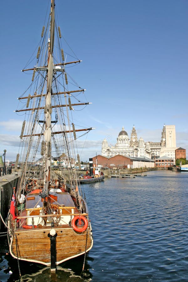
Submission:
<svg viewBox="0 0 188 282">
<path fill-rule="evenodd" d="M 16 110 L 24 122 L 15 164 L 17 170 L 19 162 L 20 178 L 8 213 L 8 243 L 18 262 L 39 263 L 55 271 L 62 262 L 86 256 L 93 245 L 86 199 L 74 166 L 80 164 L 79 135 L 94 128 L 79 124 L 76 129 L 73 122 L 74 108 L 90 104 L 84 101 L 85 89 L 67 71 L 67 66 L 81 60 L 73 61 L 69 51 L 64 55 L 54 0 L 49 12 L 35 63 L 31 58 L 23 69 L 33 76 Z M 52 154 L 62 162 L 66 159 L 66 173 L 61 166 L 60 173 L 54 169 Z"/>
</svg>

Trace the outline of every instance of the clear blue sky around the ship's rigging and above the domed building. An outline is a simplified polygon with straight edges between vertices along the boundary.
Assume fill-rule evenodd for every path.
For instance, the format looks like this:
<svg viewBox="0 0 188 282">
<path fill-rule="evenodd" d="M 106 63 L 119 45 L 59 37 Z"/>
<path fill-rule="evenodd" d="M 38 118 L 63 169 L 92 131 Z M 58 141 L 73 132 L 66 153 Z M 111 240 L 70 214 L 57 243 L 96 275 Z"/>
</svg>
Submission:
<svg viewBox="0 0 188 282">
<path fill-rule="evenodd" d="M 2 2 L 0 154 L 15 160 L 22 116 L 13 111 L 31 78 L 22 70 L 38 44 L 48 0 Z M 188 156 L 188 1 L 56 0 L 61 33 L 82 60 L 73 77 L 92 105 L 80 119 L 94 127 L 80 159 L 116 143 L 122 126 L 160 142 L 175 125 L 176 145 Z M 36 51 L 35 51 L 36 52 Z M 188 157 L 187 157 L 188 158 Z"/>
</svg>

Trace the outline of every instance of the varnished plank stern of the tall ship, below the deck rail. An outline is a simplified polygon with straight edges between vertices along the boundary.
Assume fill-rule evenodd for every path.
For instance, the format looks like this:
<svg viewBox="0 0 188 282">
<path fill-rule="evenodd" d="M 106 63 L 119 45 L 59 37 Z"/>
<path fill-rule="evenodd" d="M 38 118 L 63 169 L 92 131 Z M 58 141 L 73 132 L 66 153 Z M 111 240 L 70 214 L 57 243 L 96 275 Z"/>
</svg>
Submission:
<svg viewBox="0 0 188 282">
<path fill-rule="evenodd" d="M 16 231 L 15 236 L 9 237 L 11 255 L 16 259 L 18 258 L 20 260 L 50 266 L 50 229 L 51 228 L 35 228 L 33 230 Z M 91 237 L 91 233 L 89 232 L 89 227 L 82 233 L 74 231 L 71 227 L 58 227 L 55 228 L 55 232 L 57 234 L 57 265 L 68 259 L 80 256 L 92 248 L 93 239 Z"/>
</svg>

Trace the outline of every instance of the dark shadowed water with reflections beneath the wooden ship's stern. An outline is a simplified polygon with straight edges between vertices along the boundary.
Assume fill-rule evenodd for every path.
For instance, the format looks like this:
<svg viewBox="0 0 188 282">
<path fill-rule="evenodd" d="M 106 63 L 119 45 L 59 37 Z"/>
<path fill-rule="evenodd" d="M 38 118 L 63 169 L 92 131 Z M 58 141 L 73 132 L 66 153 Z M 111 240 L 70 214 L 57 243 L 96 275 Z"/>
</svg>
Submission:
<svg viewBox="0 0 188 282">
<path fill-rule="evenodd" d="M 82 272 L 84 255 L 57 266 L 56 273 L 51 273 L 50 267 L 19 261 L 21 278 L 19 277 L 18 262 L 13 259 L 8 250 L 7 238 L 0 243 L 0 281 L 91 281 L 92 274 L 89 261 L 93 259 L 86 254 L 84 271 Z M 12 272 L 12 274 L 9 273 Z"/>
</svg>

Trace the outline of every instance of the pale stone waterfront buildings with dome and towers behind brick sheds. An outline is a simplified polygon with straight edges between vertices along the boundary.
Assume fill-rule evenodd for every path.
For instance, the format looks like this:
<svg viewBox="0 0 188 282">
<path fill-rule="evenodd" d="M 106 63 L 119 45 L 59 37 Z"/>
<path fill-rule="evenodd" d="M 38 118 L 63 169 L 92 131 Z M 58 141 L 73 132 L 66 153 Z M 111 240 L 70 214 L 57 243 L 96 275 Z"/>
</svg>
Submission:
<svg viewBox="0 0 188 282">
<path fill-rule="evenodd" d="M 175 164 L 175 149 L 175 125 L 164 125 L 160 142 L 145 142 L 142 137 L 138 139 L 134 126 L 130 138 L 123 127 L 118 134 L 117 143 L 114 146 L 109 146 L 106 139 L 102 141 L 102 156 L 108 158 L 118 154 L 128 158 L 145 156 L 150 159 L 167 156 L 173 159 Z"/>
</svg>

